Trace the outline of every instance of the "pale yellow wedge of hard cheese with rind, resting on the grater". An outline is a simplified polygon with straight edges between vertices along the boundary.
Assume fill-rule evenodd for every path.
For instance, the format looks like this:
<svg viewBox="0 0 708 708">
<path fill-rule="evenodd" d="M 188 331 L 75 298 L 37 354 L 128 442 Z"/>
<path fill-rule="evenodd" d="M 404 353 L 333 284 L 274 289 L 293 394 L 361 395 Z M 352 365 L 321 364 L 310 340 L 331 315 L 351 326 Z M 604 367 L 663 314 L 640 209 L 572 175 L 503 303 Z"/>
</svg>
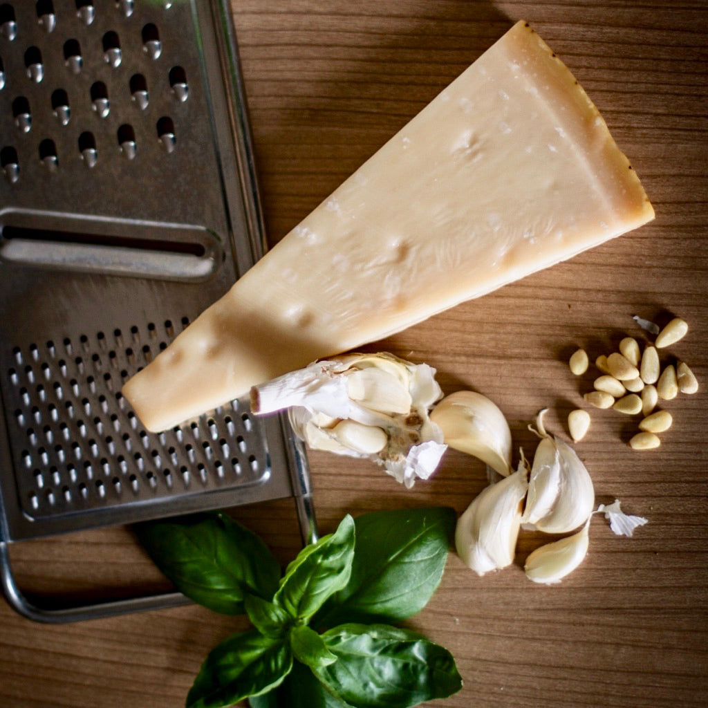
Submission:
<svg viewBox="0 0 708 708">
<path fill-rule="evenodd" d="M 652 218 L 597 108 L 519 22 L 124 394 L 164 430 Z"/>
</svg>

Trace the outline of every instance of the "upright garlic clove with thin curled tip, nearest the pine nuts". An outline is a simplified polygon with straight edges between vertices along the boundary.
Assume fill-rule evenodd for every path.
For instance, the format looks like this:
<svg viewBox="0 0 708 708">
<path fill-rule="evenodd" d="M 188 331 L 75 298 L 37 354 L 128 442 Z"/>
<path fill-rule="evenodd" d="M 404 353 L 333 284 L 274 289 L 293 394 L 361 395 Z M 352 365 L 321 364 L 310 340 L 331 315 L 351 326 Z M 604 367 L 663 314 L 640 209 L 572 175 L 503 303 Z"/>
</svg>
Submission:
<svg viewBox="0 0 708 708">
<path fill-rule="evenodd" d="M 570 445 L 549 435 L 541 411 L 536 428 L 541 442 L 534 455 L 523 523 L 546 533 L 567 533 L 584 523 L 595 503 L 593 480 Z"/>
</svg>

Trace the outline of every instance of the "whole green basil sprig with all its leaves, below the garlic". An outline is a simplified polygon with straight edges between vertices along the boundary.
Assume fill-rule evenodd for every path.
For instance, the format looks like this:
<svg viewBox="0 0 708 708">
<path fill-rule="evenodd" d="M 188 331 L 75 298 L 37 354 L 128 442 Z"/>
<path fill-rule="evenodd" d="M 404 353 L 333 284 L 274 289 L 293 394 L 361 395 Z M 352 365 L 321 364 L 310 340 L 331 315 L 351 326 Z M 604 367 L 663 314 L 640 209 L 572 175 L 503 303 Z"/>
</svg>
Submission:
<svg viewBox="0 0 708 708">
<path fill-rule="evenodd" d="M 280 578 L 265 544 L 223 513 L 139 527 L 179 590 L 254 627 L 210 652 L 187 708 L 409 708 L 457 692 L 450 652 L 390 624 L 428 603 L 454 529 L 443 507 L 347 515 Z"/>
</svg>

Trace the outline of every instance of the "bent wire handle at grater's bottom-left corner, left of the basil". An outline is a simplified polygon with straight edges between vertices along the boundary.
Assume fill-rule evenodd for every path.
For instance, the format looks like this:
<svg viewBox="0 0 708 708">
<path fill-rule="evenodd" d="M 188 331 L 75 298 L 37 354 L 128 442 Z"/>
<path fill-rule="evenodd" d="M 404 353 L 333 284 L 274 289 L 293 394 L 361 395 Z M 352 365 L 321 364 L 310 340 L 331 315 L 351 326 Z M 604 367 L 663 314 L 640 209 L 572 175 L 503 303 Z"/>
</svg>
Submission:
<svg viewBox="0 0 708 708">
<path fill-rule="evenodd" d="M 100 619 L 127 615 L 131 612 L 147 612 L 148 610 L 164 610 L 168 607 L 188 605 L 191 600 L 182 593 L 159 593 L 153 595 L 136 595 L 123 600 L 96 601 L 84 605 L 57 606 L 39 605 L 30 602 L 19 588 L 10 564 L 8 543 L 0 540 L 0 581 L 5 598 L 9 605 L 23 617 L 35 622 L 62 624 L 65 622 L 82 622 L 86 619 Z"/>
</svg>

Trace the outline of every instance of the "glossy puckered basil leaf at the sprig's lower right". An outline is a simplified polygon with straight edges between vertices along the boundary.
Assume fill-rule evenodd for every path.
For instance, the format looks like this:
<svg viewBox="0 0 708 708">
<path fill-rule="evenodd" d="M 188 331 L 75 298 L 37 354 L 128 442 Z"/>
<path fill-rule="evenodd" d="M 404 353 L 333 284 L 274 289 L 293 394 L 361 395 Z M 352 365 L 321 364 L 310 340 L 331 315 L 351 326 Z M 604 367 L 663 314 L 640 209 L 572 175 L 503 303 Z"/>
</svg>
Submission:
<svg viewBox="0 0 708 708">
<path fill-rule="evenodd" d="M 410 708 L 462 688 L 452 654 L 407 629 L 343 624 L 321 636 L 337 661 L 312 672 L 357 708 Z"/>
</svg>

